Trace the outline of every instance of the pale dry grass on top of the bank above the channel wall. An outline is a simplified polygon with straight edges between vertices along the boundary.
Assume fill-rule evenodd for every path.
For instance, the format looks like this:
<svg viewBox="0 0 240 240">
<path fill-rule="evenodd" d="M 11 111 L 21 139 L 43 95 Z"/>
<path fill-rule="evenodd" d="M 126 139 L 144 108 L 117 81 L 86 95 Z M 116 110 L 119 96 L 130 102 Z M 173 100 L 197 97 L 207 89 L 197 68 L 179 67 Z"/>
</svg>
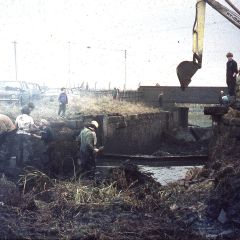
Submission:
<svg viewBox="0 0 240 240">
<path fill-rule="evenodd" d="M 45 118 L 57 118 L 58 103 L 51 102 L 49 99 L 43 99 L 35 103 L 35 109 L 32 112 L 32 117 L 36 120 Z M 1 113 L 15 119 L 20 114 L 21 107 L 18 105 L 1 104 Z M 122 114 L 132 115 L 139 113 L 159 112 L 158 108 L 152 108 L 143 103 L 130 103 L 126 101 L 113 101 L 111 97 L 87 97 L 74 96 L 70 97 L 67 107 L 67 117 L 75 117 L 79 114 L 83 115 L 98 115 L 98 114 Z"/>
</svg>

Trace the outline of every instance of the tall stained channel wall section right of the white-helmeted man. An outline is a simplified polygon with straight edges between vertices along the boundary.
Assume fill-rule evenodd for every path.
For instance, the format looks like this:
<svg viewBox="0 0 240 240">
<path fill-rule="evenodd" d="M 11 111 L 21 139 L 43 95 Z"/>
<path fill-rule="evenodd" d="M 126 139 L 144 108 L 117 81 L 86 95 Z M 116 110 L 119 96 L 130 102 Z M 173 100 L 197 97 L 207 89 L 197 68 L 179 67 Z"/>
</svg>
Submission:
<svg viewBox="0 0 240 240">
<path fill-rule="evenodd" d="M 105 117 L 103 144 L 108 153 L 151 154 L 159 148 L 163 132 L 177 125 L 177 112 Z"/>
</svg>

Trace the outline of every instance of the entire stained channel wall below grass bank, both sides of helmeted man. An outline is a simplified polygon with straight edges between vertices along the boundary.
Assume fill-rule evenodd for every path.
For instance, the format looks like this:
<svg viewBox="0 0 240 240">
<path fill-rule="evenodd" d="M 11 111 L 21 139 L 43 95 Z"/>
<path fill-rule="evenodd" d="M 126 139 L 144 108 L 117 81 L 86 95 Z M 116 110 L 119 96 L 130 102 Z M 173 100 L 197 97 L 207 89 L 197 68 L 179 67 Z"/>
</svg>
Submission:
<svg viewBox="0 0 240 240">
<path fill-rule="evenodd" d="M 158 149 L 162 133 L 179 126 L 178 111 L 136 114 L 130 116 L 85 116 L 79 119 L 51 122 L 57 141 L 72 141 L 84 124 L 97 120 L 99 145 L 106 153 L 152 153 Z"/>
</svg>

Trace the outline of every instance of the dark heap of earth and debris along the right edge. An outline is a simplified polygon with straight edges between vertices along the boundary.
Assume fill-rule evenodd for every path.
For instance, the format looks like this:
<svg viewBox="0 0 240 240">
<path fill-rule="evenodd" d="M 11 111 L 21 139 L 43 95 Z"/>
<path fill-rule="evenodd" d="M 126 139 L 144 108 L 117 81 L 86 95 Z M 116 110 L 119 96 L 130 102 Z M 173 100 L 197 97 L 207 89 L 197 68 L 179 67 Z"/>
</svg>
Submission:
<svg viewBox="0 0 240 240">
<path fill-rule="evenodd" d="M 240 111 L 230 108 L 215 129 L 210 155 L 214 189 L 207 211 L 212 219 L 235 228 L 240 227 L 240 141 L 236 135 L 239 122 Z"/>
</svg>

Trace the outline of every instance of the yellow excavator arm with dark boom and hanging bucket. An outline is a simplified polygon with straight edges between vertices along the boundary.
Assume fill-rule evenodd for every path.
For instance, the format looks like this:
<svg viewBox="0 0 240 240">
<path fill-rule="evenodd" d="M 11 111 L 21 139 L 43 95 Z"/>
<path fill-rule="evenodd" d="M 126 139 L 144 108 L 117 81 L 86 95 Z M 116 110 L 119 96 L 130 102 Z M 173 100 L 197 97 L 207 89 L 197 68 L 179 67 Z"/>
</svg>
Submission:
<svg viewBox="0 0 240 240">
<path fill-rule="evenodd" d="M 197 0 L 193 25 L 193 60 L 183 61 L 177 66 L 177 76 L 183 91 L 191 82 L 192 76 L 202 67 L 206 4 L 209 4 L 240 29 L 240 10 L 230 0 L 225 0 L 225 2 L 230 5 L 232 10 L 215 0 Z"/>
</svg>

